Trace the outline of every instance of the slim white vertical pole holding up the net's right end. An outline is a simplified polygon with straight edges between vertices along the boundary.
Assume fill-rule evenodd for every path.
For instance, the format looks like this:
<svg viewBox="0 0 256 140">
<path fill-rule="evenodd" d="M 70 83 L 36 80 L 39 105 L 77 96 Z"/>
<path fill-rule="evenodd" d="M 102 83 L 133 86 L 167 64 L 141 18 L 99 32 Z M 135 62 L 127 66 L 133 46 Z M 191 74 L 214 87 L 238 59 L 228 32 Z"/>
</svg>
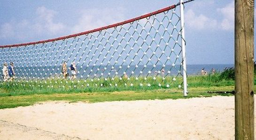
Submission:
<svg viewBox="0 0 256 140">
<path fill-rule="evenodd" d="M 184 96 L 187 96 L 187 82 L 186 82 L 186 44 L 185 44 L 185 28 L 184 28 L 184 4 L 183 0 L 180 2 L 180 28 L 181 28 L 181 48 L 182 48 L 182 61 L 183 61 L 183 85 Z"/>
</svg>

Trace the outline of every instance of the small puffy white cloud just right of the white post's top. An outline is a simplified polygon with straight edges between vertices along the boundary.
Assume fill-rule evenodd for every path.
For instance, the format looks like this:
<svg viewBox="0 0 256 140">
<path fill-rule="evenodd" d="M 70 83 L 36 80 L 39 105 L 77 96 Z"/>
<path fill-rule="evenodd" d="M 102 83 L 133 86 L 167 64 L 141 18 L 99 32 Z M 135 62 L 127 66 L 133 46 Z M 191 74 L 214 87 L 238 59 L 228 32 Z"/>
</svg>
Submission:
<svg viewBox="0 0 256 140">
<path fill-rule="evenodd" d="M 217 20 L 211 19 L 203 14 L 196 15 L 192 9 L 186 12 L 185 19 L 188 28 L 202 30 L 215 29 L 217 27 Z"/>
</svg>

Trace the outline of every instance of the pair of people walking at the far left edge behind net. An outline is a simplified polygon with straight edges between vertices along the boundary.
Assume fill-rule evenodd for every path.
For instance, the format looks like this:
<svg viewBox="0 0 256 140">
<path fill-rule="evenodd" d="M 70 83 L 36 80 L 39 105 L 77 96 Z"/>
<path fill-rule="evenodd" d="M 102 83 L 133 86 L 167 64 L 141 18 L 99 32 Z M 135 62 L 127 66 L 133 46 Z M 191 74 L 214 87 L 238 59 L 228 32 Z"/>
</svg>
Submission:
<svg viewBox="0 0 256 140">
<path fill-rule="evenodd" d="M 9 66 L 8 63 L 4 63 L 2 71 L 2 78 L 4 82 L 13 81 L 15 79 L 15 70 L 13 62 L 11 62 Z"/>
</svg>

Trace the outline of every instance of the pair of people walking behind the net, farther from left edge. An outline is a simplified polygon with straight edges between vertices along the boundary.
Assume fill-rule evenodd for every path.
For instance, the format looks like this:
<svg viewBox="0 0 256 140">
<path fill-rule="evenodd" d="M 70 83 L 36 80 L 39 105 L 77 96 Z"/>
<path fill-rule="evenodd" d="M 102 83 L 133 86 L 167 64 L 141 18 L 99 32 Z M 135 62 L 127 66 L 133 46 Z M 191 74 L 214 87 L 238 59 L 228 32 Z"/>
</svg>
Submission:
<svg viewBox="0 0 256 140">
<path fill-rule="evenodd" d="M 68 73 L 68 68 L 67 68 L 67 62 L 64 61 L 62 63 L 62 74 L 63 74 L 63 78 L 66 79 L 67 77 L 69 77 L 69 73 Z M 78 73 L 78 70 L 77 70 L 77 67 L 76 67 L 76 63 L 75 62 L 72 62 L 69 69 L 71 70 L 71 77 L 70 77 L 70 80 L 74 80 L 77 78 L 77 73 Z"/>
</svg>

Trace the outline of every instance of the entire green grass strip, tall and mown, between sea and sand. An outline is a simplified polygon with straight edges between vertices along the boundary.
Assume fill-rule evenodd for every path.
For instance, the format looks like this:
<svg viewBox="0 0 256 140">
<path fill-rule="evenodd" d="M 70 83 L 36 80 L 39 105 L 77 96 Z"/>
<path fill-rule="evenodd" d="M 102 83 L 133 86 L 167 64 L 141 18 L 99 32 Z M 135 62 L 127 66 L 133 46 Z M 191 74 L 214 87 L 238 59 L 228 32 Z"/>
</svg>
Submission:
<svg viewBox="0 0 256 140">
<path fill-rule="evenodd" d="M 52 81 L 52 83 L 50 83 Z M 189 94 L 184 97 L 182 89 L 178 85 L 182 82 L 181 77 L 147 78 L 139 77 L 138 80 L 132 77 L 127 79 L 100 79 L 85 81 L 70 81 L 58 79 L 47 79 L 42 81 L 20 81 L 0 84 L 0 109 L 13 108 L 18 106 L 33 105 L 45 101 L 68 101 L 68 102 L 105 102 L 105 101 L 126 101 L 126 100 L 151 100 L 151 99 L 178 99 L 194 97 L 211 97 L 216 95 L 231 96 L 232 94 L 209 94 L 205 91 L 233 91 L 234 81 L 222 79 L 220 74 L 209 76 L 190 76 L 187 78 Z M 65 83 L 65 84 L 64 84 Z M 127 83 L 128 86 L 125 86 Z M 129 86 L 130 84 L 133 86 Z M 142 83 L 144 86 L 140 86 Z M 150 87 L 147 84 L 150 83 Z M 161 83 L 161 87 L 158 84 Z M 65 85 L 64 88 L 60 85 Z M 86 85 L 95 85 L 90 86 Z M 103 86 L 99 86 L 103 84 Z M 112 84 L 112 86 L 110 86 Z M 118 88 L 113 86 L 118 84 Z M 167 88 L 166 84 L 170 84 Z M 32 86 L 33 85 L 33 86 Z M 52 85 L 53 87 L 48 85 Z M 74 87 L 76 85 L 76 87 Z M 84 85 L 84 86 L 83 86 Z"/>
</svg>

